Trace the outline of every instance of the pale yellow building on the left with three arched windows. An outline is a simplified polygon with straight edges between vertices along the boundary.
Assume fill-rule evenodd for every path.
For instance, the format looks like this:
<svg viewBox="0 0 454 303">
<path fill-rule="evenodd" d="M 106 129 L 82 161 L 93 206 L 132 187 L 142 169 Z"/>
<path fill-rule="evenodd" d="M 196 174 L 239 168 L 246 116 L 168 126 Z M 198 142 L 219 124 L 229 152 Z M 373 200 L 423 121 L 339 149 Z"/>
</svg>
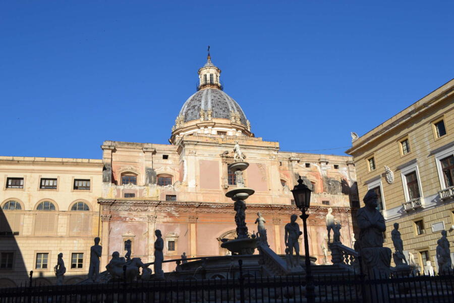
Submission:
<svg viewBox="0 0 454 303">
<path fill-rule="evenodd" d="M 63 252 L 66 283 L 85 279 L 99 231 L 102 161 L 0 157 L 0 287 L 49 284 Z M 72 277 L 72 281 L 70 281 Z"/>
</svg>

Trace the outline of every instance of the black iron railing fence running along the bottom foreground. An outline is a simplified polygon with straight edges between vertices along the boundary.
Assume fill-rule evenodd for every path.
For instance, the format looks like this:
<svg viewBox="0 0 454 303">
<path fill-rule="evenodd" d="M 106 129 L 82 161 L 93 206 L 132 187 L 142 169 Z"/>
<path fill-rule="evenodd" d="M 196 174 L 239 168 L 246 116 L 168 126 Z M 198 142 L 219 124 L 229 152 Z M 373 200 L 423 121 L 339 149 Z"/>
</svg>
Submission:
<svg viewBox="0 0 454 303">
<path fill-rule="evenodd" d="M 314 277 L 316 302 L 430 302 L 454 298 L 454 276 L 367 277 L 345 274 Z M 0 289 L 0 303 L 297 303 L 305 302 L 301 275 L 138 281 L 105 284 L 16 287 Z"/>
</svg>

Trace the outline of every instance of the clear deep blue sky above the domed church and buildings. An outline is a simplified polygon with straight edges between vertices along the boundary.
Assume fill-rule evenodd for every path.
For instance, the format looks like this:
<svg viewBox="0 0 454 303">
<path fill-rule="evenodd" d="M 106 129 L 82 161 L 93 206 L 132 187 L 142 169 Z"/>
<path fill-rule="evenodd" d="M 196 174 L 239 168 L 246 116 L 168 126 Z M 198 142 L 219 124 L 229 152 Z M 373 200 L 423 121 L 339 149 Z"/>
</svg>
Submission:
<svg viewBox="0 0 454 303">
<path fill-rule="evenodd" d="M 167 143 L 207 45 L 257 137 L 343 155 L 350 131 L 366 133 L 453 77 L 453 10 L 452 1 L 3 1 L 0 155 L 101 158 L 103 140 Z"/>
</svg>

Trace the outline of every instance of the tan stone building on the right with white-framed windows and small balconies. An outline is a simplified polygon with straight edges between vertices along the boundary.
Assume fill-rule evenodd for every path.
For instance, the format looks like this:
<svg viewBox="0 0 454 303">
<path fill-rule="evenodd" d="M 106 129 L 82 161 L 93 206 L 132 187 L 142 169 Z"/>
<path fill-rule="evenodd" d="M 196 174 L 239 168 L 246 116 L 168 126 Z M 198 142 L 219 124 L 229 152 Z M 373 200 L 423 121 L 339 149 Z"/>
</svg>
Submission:
<svg viewBox="0 0 454 303">
<path fill-rule="evenodd" d="M 419 266 L 430 260 L 437 271 L 440 231 L 454 240 L 454 80 L 354 138 L 346 153 L 354 157 L 360 197 L 368 189 L 380 196 L 385 245 L 394 249 L 390 232 L 398 222 L 407 257 Z"/>
</svg>

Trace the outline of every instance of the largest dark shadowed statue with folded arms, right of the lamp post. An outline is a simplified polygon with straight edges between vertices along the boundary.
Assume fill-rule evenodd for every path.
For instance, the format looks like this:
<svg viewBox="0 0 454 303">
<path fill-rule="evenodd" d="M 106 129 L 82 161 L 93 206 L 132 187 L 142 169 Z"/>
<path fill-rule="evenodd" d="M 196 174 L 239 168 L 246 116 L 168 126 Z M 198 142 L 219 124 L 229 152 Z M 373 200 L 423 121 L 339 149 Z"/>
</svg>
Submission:
<svg viewBox="0 0 454 303">
<path fill-rule="evenodd" d="M 357 213 L 360 228 L 359 249 L 363 268 L 367 274 L 389 276 L 391 265 L 391 249 L 383 247 L 383 232 L 386 225 L 380 211 L 377 210 L 378 196 L 370 189 L 364 196 L 365 207 Z"/>
</svg>

